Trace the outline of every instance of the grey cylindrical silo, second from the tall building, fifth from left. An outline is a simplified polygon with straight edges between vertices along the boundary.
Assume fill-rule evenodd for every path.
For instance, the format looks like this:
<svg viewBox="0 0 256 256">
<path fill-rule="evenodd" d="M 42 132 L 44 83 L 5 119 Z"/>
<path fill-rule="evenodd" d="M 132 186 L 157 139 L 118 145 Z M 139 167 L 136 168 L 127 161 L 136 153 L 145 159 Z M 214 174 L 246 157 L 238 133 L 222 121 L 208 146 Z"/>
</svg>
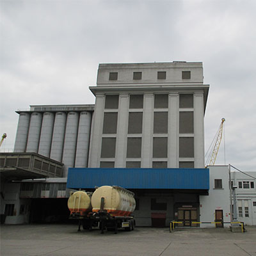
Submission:
<svg viewBox="0 0 256 256">
<path fill-rule="evenodd" d="M 62 156 L 62 163 L 65 164 L 63 177 L 67 177 L 68 167 L 74 167 L 75 164 L 78 122 L 79 114 L 77 112 L 69 112 Z"/>
</svg>

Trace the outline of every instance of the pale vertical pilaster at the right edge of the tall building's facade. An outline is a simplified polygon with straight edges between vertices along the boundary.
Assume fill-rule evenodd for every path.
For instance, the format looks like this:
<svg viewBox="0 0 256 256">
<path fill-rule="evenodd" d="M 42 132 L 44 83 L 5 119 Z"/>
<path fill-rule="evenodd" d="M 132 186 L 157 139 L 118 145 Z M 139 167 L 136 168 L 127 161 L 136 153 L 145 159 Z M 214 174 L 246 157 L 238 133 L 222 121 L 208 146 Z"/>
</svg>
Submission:
<svg viewBox="0 0 256 256">
<path fill-rule="evenodd" d="M 194 93 L 195 168 L 204 168 L 204 93 Z"/>
</svg>

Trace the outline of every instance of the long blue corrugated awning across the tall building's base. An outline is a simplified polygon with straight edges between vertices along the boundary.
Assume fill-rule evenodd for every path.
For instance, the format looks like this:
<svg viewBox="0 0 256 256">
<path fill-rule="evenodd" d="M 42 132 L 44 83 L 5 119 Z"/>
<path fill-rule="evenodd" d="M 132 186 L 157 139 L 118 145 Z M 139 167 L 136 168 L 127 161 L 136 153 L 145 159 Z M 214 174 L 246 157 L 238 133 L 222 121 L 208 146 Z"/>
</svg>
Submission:
<svg viewBox="0 0 256 256">
<path fill-rule="evenodd" d="M 69 168 L 67 188 L 209 189 L 208 168 Z"/>
</svg>

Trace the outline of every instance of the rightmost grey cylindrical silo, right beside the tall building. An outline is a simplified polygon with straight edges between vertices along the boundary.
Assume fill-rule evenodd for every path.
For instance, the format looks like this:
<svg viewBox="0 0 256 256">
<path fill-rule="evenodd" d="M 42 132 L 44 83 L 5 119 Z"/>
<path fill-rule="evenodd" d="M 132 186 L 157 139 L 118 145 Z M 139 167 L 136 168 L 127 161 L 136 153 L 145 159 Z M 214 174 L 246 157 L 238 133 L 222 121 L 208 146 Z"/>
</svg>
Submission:
<svg viewBox="0 0 256 256">
<path fill-rule="evenodd" d="M 76 146 L 75 167 L 85 168 L 88 162 L 88 148 L 90 141 L 91 113 L 81 112 L 79 118 L 79 127 Z"/>
</svg>

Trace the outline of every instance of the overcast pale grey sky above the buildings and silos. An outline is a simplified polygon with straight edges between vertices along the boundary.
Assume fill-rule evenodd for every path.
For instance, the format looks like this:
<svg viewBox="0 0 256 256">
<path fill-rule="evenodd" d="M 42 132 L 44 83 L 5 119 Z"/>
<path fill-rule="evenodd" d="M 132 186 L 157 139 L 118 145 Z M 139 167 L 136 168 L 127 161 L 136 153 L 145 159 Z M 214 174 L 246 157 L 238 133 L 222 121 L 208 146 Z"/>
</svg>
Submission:
<svg viewBox="0 0 256 256">
<path fill-rule="evenodd" d="M 210 84 L 205 151 L 256 171 L 256 1 L 0 1 L 2 149 L 33 104 L 93 104 L 99 63 L 202 61 Z"/>
</svg>

